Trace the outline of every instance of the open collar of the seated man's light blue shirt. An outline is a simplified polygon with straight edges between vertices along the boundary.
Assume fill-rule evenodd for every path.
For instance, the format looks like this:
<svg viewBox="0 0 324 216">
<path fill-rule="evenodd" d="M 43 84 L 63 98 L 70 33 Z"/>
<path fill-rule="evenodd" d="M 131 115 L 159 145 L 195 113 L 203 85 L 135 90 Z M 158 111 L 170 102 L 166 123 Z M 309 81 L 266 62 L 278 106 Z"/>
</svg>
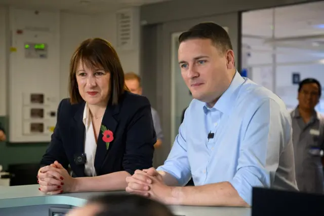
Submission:
<svg viewBox="0 0 324 216">
<path fill-rule="evenodd" d="M 204 112 L 207 113 L 208 111 L 212 110 L 218 110 L 222 112 L 223 114 L 229 114 L 233 107 L 233 101 L 234 101 L 234 92 L 235 90 L 244 83 L 244 78 L 240 76 L 240 74 L 237 72 L 234 75 L 234 78 L 229 85 L 229 87 L 226 89 L 226 91 L 222 94 L 222 96 L 217 100 L 215 105 L 210 108 L 208 107 L 207 103 L 204 103 Z"/>
</svg>

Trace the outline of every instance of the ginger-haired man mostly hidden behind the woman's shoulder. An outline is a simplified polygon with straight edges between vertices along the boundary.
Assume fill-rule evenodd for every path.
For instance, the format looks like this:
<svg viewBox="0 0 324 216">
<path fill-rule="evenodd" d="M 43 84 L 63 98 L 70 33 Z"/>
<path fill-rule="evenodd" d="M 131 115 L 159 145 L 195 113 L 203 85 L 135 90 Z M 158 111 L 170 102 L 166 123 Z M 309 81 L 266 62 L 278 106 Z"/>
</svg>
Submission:
<svg viewBox="0 0 324 216">
<path fill-rule="evenodd" d="M 133 72 L 125 74 L 125 83 L 132 93 L 140 94 L 140 95 L 142 94 L 141 78 L 137 74 Z M 151 112 L 152 112 L 154 129 L 157 137 L 157 141 L 154 144 L 154 148 L 156 149 L 162 145 L 163 133 L 160 125 L 160 119 L 158 117 L 156 110 L 154 110 L 153 107 L 151 107 Z"/>
</svg>

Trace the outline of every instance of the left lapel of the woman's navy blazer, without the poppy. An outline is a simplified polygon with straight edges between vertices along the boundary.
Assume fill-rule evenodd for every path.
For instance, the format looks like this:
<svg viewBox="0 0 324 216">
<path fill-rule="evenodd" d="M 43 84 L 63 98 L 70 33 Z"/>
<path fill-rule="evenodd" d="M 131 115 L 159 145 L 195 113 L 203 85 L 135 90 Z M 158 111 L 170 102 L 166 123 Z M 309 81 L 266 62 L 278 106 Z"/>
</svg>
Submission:
<svg viewBox="0 0 324 216">
<path fill-rule="evenodd" d="M 85 110 L 86 103 L 83 102 L 76 111 L 73 124 L 71 125 L 71 148 L 73 149 L 73 160 L 75 155 L 80 155 L 85 152 L 85 125 L 83 123 L 83 113 Z M 78 177 L 86 176 L 85 175 L 85 164 L 76 165 L 79 169 L 75 173 Z"/>
</svg>

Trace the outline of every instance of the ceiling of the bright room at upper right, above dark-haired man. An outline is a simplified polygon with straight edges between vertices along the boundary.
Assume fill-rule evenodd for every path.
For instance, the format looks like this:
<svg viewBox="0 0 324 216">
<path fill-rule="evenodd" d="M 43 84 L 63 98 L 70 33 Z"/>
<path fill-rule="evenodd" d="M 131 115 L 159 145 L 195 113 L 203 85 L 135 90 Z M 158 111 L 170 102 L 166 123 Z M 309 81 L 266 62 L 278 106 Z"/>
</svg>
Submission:
<svg viewBox="0 0 324 216">
<path fill-rule="evenodd" d="M 242 43 L 324 52 L 324 1 L 242 14 Z"/>
</svg>

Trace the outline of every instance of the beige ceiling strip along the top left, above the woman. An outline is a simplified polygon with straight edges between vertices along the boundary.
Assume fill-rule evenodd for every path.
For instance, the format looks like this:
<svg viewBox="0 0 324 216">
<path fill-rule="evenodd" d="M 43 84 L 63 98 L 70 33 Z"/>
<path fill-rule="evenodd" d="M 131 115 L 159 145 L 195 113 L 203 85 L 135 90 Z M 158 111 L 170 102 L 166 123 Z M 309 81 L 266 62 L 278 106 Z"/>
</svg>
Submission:
<svg viewBox="0 0 324 216">
<path fill-rule="evenodd" d="M 0 5 L 74 13 L 102 13 L 167 1 L 173 0 L 0 0 Z"/>
</svg>

